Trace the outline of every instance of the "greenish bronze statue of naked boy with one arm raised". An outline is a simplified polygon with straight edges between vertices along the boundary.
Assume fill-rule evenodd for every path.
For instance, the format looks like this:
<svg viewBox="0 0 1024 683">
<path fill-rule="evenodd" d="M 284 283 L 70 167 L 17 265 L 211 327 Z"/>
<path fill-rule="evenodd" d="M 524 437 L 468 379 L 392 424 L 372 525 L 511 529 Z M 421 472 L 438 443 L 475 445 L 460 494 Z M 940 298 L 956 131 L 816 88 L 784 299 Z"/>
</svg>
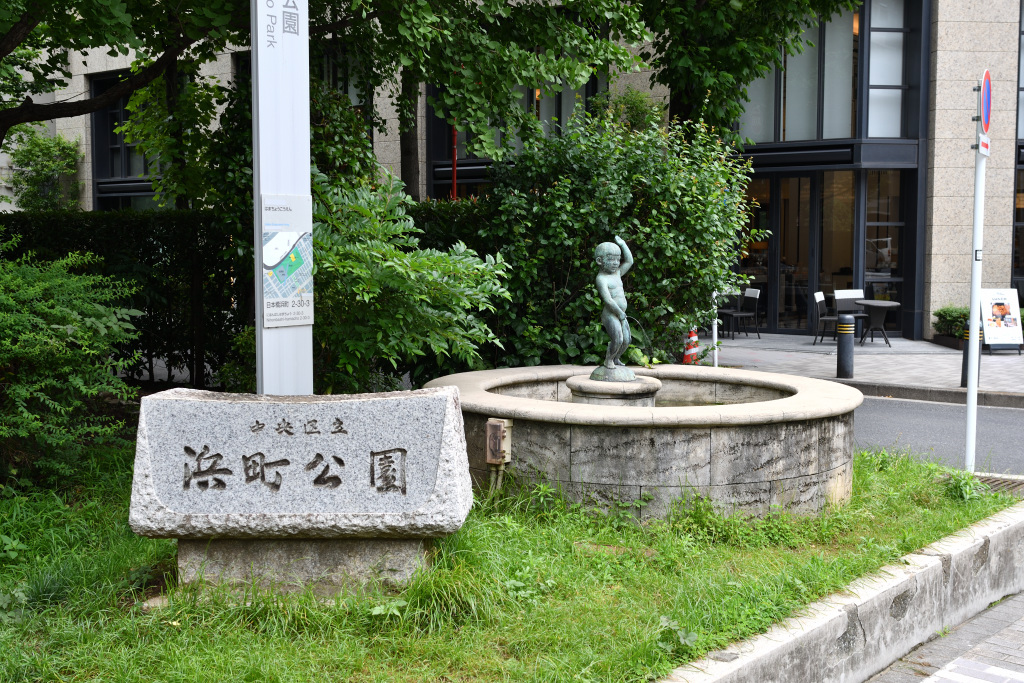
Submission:
<svg viewBox="0 0 1024 683">
<path fill-rule="evenodd" d="M 633 371 L 621 360 L 629 348 L 633 337 L 626 318 L 626 292 L 623 290 L 623 275 L 633 267 L 633 254 L 626 242 L 615 236 L 615 242 L 602 242 L 594 250 L 594 260 L 600 270 L 597 273 L 597 293 L 604 303 L 601 310 L 601 325 L 608 333 L 608 348 L 604 354 L 604 366 L 591 375 L 591 379 L 606 382 L 628 382 L 635 379 Z"/>
</svg>

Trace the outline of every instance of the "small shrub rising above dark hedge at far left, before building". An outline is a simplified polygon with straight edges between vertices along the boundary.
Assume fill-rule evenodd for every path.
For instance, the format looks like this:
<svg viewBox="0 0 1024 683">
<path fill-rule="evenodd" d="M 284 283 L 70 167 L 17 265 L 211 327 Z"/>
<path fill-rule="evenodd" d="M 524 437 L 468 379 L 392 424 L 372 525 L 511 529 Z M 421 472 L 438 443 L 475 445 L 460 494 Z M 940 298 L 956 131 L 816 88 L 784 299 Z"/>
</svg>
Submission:
<svg viewBox="0 0 1024 683">
<path fill-rule="evenodd" d="M 50 137 L 34 128 L 11 135 L 10 163 L 14 200 L 23 211 L 78 209 L 78 142 L 60 134 Z"/>
</svg>

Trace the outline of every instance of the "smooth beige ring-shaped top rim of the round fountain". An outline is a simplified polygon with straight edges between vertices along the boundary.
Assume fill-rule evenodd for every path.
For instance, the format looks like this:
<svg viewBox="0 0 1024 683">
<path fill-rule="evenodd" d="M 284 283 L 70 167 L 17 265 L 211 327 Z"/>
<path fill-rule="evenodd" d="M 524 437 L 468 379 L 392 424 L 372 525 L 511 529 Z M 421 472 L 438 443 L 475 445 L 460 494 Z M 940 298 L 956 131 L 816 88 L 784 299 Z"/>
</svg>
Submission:
<svg viewBox="0 0 1024 683">
<path fill-rule="evenodd" d="M 437 378 L 425 387 L 456 386 L 462 410 L 492 418 L 522 419 L 570 425 L 708 426 L 757 425 L 834 417 L 852 412 L 864 396 L 857 389 L 827 380 L 731 368 L 664 365 L 632 368 L 638 376 L 670 381 L 716 382 L 775 389 L 782 398 L 725 405 L 633 408 L 523 398 L 494 393 L 494 389 L 537 382 L 562 382 L 589 375 L 588 366 L 536 366 L 459 373 Z"/>
</svg>

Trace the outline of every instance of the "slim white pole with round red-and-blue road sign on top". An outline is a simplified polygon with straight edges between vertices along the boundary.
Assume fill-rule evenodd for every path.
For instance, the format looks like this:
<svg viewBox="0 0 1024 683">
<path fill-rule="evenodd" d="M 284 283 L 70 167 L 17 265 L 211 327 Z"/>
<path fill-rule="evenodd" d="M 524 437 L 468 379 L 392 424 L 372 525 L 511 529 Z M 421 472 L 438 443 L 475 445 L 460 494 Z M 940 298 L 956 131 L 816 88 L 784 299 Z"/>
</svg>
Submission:
<svg viewBox="0 0 1024 683">
<path fill-rule="evenodd" d="M 964 469 L 974 471 L 978 428 L 978 359 L 981 353 L 981 254 L 985 226 L 985 163 L 990 154 L 988 124 L 992 111 L 992 81 L 985 70 L 978 91 L 978 141 L 975 144 L 974 243 L 971 250 L 971 337 L 967 356 L 967 447 Z"/>
</svg>

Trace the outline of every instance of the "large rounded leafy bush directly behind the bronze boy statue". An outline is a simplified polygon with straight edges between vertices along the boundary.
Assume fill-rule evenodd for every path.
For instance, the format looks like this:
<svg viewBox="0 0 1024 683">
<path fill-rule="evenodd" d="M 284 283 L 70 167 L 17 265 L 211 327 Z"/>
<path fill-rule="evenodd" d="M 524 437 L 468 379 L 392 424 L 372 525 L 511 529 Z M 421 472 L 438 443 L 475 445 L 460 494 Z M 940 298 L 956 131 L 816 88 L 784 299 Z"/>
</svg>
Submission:
<svg viewBox="0 0 1024 683">
<path fill-rule="evenodd" d="M 636 259 L 624 279 L 627 313 L 642 328 L 636 343 L 658 360 L 682 354 L 690 328 L 714 317 L 714 292 L 742 284 L 731 266 L 760 234 L 743 230 L 749 167 L 701 122 L 666 130 L 648 105 L 645 127 L 634 128 L 620 122 L 624 109 L 574 117 L 564 134 L 527 142 L 494 169 L 490 194 L 475 205 L 420 210 L 424 229 L 441 231 L 431 240 L 499 249 L 508 263 L 511 299 L 488 318 L 505 348 L 483 353 L 490 366 L 603 357 L 594 248 L 614 234 Z"/>
</svg>

